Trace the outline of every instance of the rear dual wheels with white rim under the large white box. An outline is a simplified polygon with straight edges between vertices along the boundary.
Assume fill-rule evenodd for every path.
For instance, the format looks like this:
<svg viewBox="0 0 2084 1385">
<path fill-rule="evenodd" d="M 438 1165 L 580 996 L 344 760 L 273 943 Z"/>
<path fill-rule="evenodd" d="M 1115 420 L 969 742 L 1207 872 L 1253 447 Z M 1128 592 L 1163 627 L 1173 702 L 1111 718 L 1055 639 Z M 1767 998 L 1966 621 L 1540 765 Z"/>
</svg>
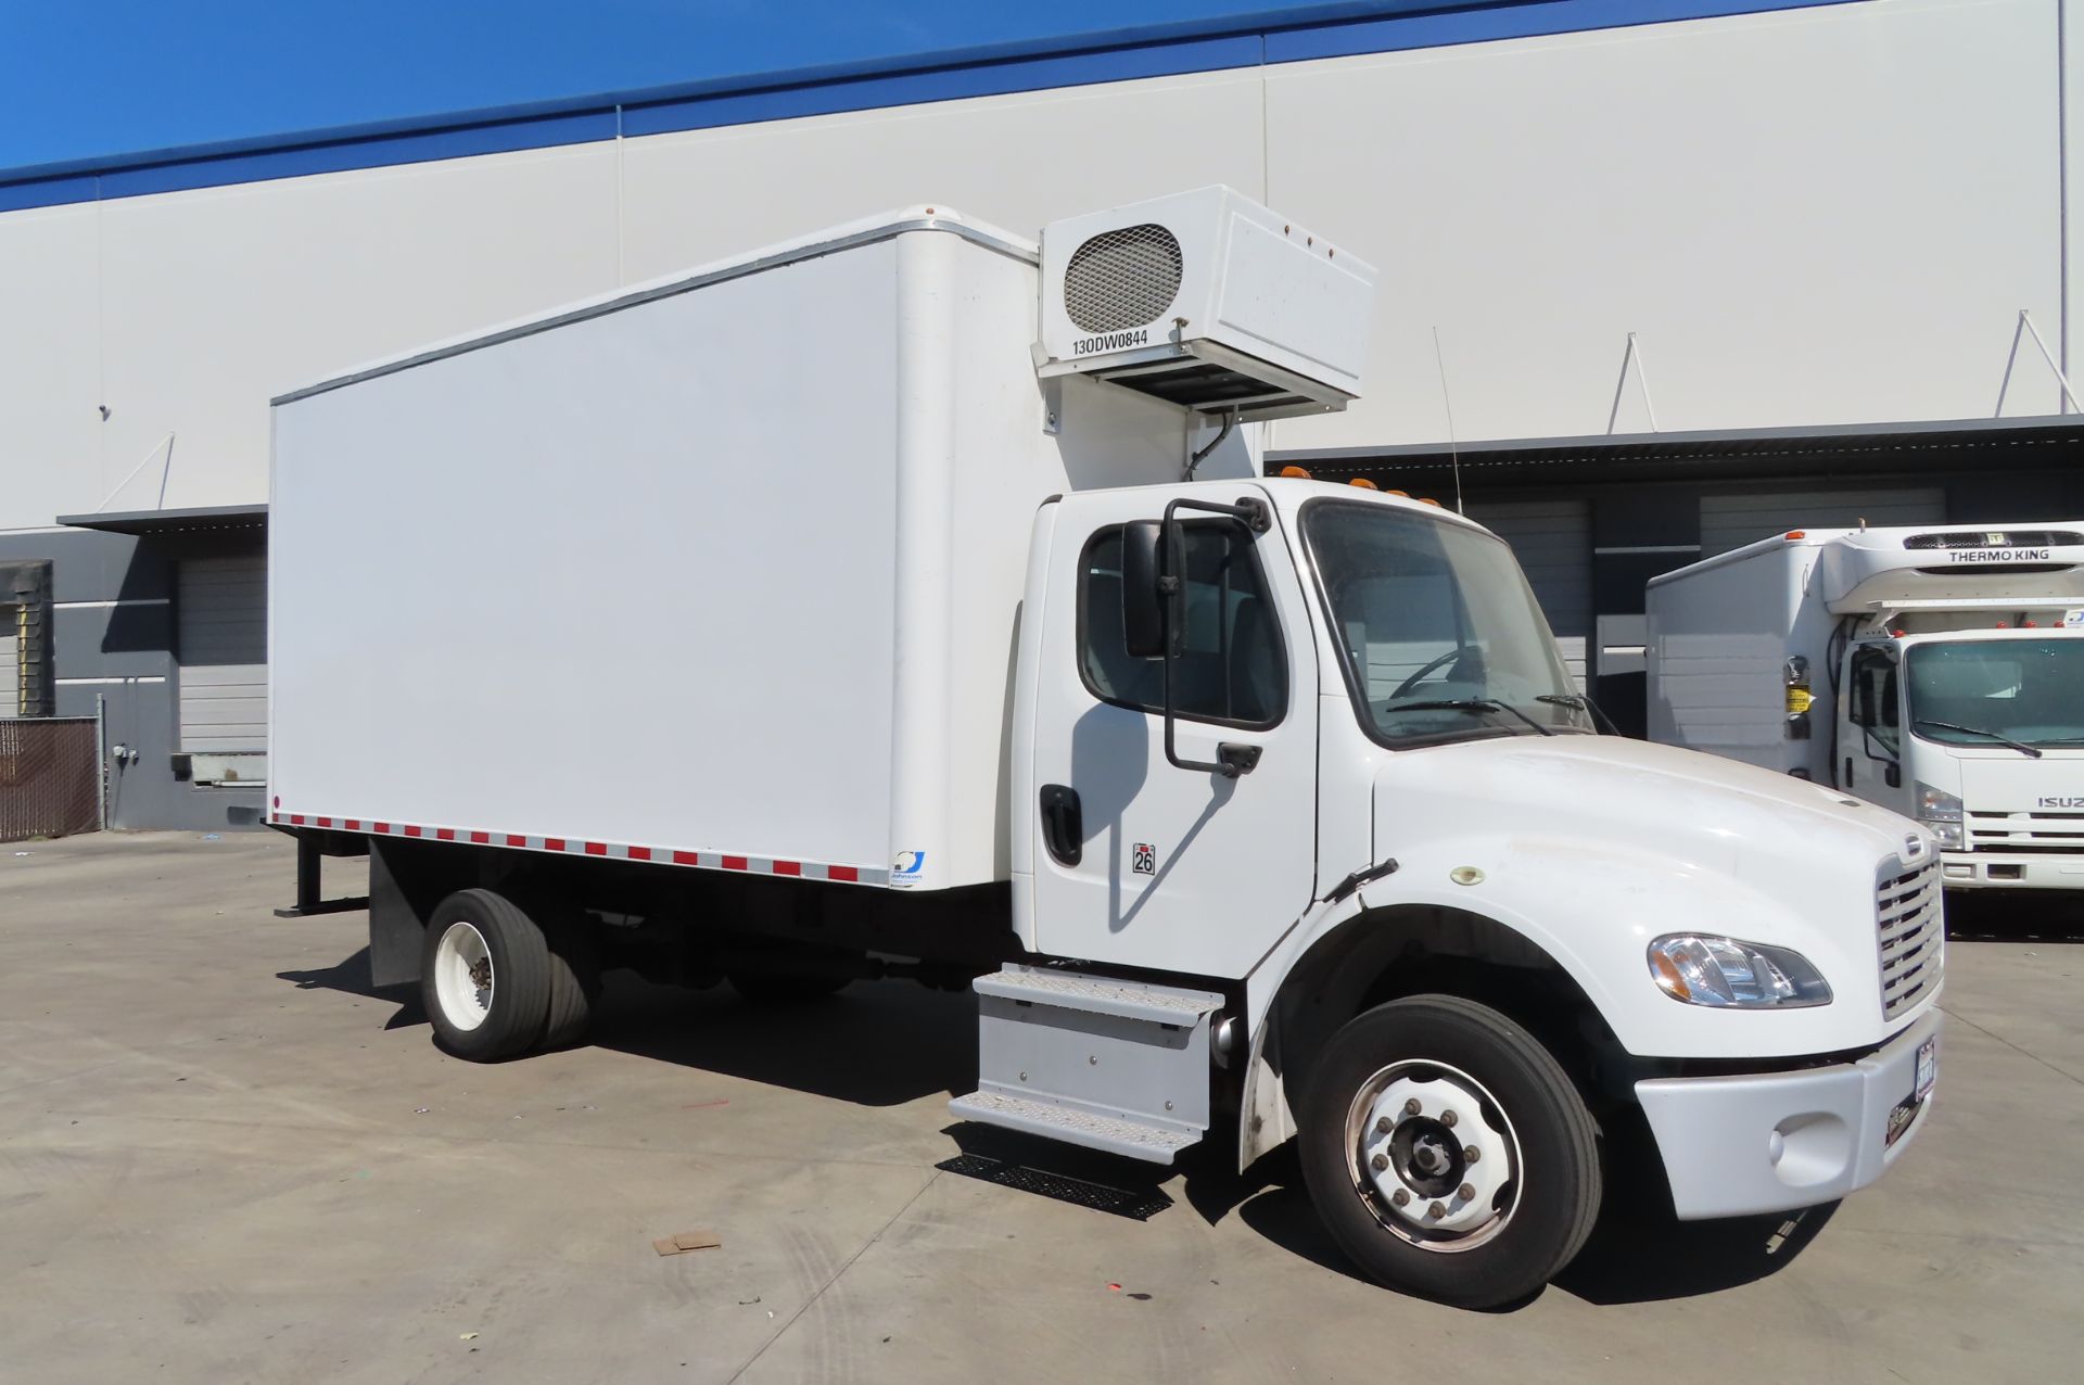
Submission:
<svg viewBox="0 0 2084 1385">
<path fill-rule="evenodd" d="M 523 910 L 492 889 L 458 889 L 442 900 L 427 925 L 419 977 L 436 1039 L 471 1062 L 575 1043 L 600 985 L 575 918 L 548 904 Z"/>
</svg>

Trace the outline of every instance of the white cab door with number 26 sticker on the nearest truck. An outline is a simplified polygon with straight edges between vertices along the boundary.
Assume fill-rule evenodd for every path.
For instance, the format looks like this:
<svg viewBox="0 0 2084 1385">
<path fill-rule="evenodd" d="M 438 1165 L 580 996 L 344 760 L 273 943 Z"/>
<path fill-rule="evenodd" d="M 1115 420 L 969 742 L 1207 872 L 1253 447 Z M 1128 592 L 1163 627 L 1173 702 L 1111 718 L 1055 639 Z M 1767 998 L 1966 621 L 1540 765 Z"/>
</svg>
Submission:
<svg viewBox="0 0 2084 1385">
<path fill-rule="evenodd" d="M 1055 956 L 1242 977 L 1311 904 L 1317 860 L 1317 660 L 1280 519 L 1255 535 L 1186 521 L 1186 650 L 1175 750 L 1259 748 L 1236 779 L 1165 756 L 1163 660 L 1132 658 L 1121 525 L 1150 489 L 1071 496 L 1048 556 L 1036 669 L 1036 941 Z M 1075 829 L 1073 829 L 1075 827 Z"/>
</svg>

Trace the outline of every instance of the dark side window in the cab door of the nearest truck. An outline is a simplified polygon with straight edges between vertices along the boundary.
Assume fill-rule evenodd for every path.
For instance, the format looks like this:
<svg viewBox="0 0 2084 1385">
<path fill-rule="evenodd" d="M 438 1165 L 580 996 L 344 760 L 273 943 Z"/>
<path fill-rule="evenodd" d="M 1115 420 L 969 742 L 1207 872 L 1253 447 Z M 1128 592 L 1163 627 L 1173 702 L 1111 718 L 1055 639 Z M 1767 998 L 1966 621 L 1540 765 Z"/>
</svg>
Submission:
<svg viewBox="0 0 2084 1385">
<path fill-rule="evenodd" d="M 1190 523 L 1186 639 L 1173 664 L 1173 710 L 1194 721 L 1271 727 L 1288 712 L 1288 652 L 1252 558 L 1230 523 Z M 1132 658 L 1121 633 L 1121 529 L 1086 544 L 1077 591 L 1080 673 L 1100 702 L 1165 710 L 1165 660 Z"/>
</svg>

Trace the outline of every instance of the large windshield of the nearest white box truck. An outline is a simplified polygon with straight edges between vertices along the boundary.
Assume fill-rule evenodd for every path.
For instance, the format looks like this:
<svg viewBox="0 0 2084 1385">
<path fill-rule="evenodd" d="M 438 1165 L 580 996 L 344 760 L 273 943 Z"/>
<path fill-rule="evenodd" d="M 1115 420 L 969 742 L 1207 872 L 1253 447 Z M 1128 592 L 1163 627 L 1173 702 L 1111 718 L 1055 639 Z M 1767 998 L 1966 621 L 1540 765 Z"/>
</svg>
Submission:
<svg viewBox="0 0 2084 1385">
<path fill-rule="evenodd" d="M 1336 500 L 1302 510 L 1302 535 L 1375 735 L 1592 731 L 1548 621 L 1500 539 Z"/>
</svg>

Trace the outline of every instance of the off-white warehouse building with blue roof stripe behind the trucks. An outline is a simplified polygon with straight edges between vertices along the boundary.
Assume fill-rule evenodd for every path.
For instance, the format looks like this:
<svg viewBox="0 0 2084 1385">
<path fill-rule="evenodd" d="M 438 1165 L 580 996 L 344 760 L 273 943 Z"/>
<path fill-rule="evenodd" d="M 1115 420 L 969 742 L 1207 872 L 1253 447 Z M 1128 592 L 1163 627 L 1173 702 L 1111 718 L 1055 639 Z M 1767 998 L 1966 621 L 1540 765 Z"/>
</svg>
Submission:
<svg viewBox="0 0 2084 1385">
<path fill-rule="evenodd" d="M 100 700 L 119 825 L 250 823 L 271 396 L 890 206 L 1230 183 L 1382 271 L 1365 398 L 1265 462 L 1494 525 L 1630 721 L 1659 571 L 2084 512 L 2071 10 L 1340 4 L 0 173 L 0 716 Z"/>
</svg>

